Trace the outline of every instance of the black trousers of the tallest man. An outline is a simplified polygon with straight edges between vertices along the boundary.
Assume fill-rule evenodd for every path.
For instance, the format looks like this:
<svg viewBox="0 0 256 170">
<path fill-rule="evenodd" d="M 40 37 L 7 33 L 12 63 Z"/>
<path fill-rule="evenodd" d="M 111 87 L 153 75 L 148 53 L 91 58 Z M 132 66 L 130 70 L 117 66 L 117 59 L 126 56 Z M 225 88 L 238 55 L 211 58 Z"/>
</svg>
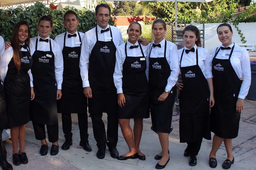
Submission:
<svg viewBox="0 0 256 170">
<path fill-rule="evenodd" d="M 104 122 L 102 121 L 102 113 L 91 113 L 93 135 L 97 142 L 98 148 L 106 148 L 107 146 L 116 147 L 118 141 L 118 117 L 117 113 L 108 114 L 107 136 Z"/>
</svg>

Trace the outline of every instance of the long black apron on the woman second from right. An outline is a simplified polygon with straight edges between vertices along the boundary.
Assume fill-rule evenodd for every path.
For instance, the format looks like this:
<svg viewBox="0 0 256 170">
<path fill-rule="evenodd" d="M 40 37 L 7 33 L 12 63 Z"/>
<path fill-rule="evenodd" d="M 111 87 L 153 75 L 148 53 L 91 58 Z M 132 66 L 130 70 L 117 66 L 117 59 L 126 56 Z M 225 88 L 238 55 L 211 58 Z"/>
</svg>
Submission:
<svg viewBox="0 0 256 170">
<path fill-rule="evenodd" d="M 185 49 L 180 57 L 180 66 Z M 210 91 L 207 79 L 198 65 L 180 67 L 183 88 L 180 90 L 180 142 L 196 142 L 202 138 L 211 139 L 210 131 Z"/>
</svg>

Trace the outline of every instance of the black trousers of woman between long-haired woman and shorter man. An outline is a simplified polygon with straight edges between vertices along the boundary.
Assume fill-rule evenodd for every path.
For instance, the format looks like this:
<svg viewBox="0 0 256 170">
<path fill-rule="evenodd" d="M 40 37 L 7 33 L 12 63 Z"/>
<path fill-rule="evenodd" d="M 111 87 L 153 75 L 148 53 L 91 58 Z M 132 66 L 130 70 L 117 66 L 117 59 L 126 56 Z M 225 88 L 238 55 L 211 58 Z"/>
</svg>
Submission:
<svg viewBox="0 0 256 170">
<path fill-rule="evenodd" d="M 34 133 L 37 140 L 44 140 L 46 138 L 45 136 L 45 125 L 44 124 L 38 124 L 34 123 Z M 47 133 L 48 133 L 48 140 L 49 142 L 56 142 L 59 140 L 59 125 L 46 125 L 47 127 Z"/>
</svg>

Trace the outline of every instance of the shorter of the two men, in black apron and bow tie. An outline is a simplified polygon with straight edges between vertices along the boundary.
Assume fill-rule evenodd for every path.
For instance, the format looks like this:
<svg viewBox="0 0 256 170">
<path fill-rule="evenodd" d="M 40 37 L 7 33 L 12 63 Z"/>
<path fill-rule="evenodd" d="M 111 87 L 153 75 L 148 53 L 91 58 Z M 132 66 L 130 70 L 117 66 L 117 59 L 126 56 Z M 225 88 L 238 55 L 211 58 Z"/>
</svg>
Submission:
<svg viewBox="0 0 256 170">
<path fill-rule="evenodd" d="M 54 39 L 62 48 L 64 62 L 62 97 L 57 101 L 58 113 L 62 113 L 62 129 L 66 139 L 61 148 L 68 150 L 72 145 L 71 113 L 77 113 L 81 139 L 79 145 L 83 146 L 85 151 L 91 152 L 92 148 L 88 142 L 87 98 L 83 94 L 79 69 L 84 33 L 77 31 L 79 20 L 75 11 L 65 12 L 63 19 L 67 32 L 57 35 Z"/>
</svg>

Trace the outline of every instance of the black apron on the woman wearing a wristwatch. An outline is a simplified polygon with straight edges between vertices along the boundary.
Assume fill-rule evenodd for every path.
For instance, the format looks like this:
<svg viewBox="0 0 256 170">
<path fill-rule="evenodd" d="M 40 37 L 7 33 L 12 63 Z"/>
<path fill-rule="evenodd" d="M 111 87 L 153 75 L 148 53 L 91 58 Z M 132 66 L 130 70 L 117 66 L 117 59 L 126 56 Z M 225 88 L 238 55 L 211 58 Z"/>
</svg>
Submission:
<svg viewBox="0 0 256 170">
<path fill-rule="evenodd" d="M 164 92 L 171 74 L 171 69 L 166 60 L 166 45 L 164 45 L 164 57 L 150 58 L 153 48 L 149 52 L 149 107 L 154 131 L 162 133 L 171 132 L 172 109 L 176 96 L 176 86 L 174 85 L 164 101 L 157 101 Z"/>
</svg>

